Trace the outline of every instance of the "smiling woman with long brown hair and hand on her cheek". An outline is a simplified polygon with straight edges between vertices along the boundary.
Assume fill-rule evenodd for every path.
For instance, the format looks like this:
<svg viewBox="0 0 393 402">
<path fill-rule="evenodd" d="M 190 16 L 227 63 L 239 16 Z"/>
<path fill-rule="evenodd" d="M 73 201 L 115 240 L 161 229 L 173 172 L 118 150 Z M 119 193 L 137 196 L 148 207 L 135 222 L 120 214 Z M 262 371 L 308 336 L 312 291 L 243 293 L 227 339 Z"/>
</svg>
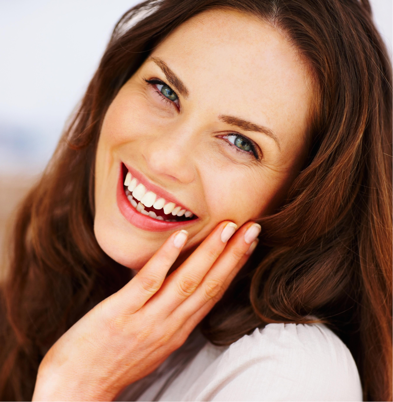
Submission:
<svg viewBox="0 0 393 402">
<path fill-rule="evenodd" d="M 20 207 L 2 398 L 390 400 L 391 108 L 366 0 L 124 14 Z"/>
</svg>

